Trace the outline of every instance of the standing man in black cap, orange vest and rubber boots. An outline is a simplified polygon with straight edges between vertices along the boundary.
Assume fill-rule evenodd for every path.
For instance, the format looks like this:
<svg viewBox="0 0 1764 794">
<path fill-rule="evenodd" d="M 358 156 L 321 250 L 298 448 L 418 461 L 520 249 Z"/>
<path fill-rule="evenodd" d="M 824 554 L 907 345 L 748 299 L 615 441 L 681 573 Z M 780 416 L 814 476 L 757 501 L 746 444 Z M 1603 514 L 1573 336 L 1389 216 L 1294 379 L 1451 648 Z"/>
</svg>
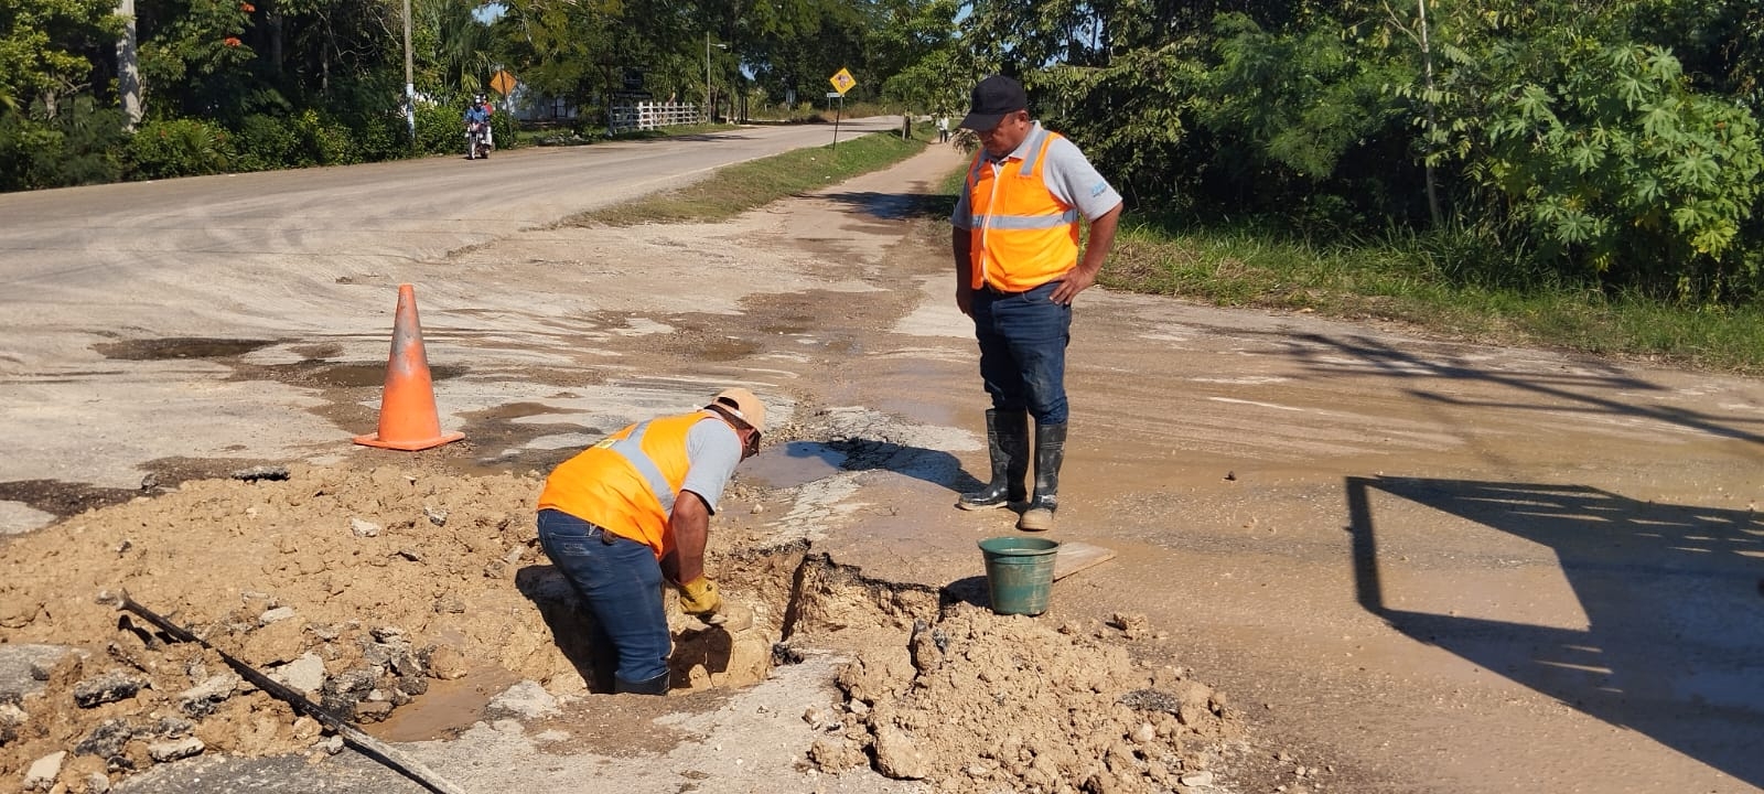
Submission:
<svg viewBox="0 0 1764 794">
<path fill-rule="evenodd" d="M 956 506 L 1021 505 L 1018 529 L 1053 529 L 1065 457 L 1065 344 L 1073 298 L 1095 282 L 1115 242 L 1120 194 L 1076 145 L 1028 118 L 1028 94 L 995 74 L 974 86 L 963 129 L 979 134 L 967 189 L 951 213 L 956 307 L 974 318 L 981 379 L 991 395 L 991 482 Z M 1090 238 L 1078 245 L 1078 219 Z M 1034 494 L 1028 416 L 1035 418 Z"/>
</svg>

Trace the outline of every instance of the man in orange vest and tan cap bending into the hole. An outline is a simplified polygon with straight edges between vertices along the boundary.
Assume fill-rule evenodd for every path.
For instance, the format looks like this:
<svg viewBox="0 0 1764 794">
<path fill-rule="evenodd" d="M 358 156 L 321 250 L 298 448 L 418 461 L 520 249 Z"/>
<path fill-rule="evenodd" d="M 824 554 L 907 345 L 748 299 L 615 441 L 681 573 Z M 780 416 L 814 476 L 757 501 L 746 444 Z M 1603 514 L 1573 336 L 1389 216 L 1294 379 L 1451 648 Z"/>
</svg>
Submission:
<svg viewBox="0 0 1764 794">
<path fill-rule="evenodd" d="M 721 609 L 704 575 L 711 513 L 736 464 L 753 457 L 766 404 L 725 388 L 699 411 L 624 427 L 564 461 L 540 494 L 540 545 L 594 612 L 596 644 L 617 651 L 614 692 L 665 695 L 672 635 L 662 584 L 679 609 Z"/>
</svg>

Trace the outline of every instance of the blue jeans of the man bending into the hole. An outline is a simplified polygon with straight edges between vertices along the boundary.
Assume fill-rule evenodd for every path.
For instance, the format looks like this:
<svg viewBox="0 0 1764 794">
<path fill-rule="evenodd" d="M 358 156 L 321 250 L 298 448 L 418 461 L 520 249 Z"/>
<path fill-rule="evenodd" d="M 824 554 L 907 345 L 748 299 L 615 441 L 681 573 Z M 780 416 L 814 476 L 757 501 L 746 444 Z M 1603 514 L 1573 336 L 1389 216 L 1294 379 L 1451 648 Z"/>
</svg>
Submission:
<svg viewBox="0 0 1764 794">
<path fill-rule="evenodd" d="M 654 551 L 559 510 L 540 510 L 540 545 L 617 651 L 617 678 L 642 683 L 665 676 L 672 637 Z"/>
</svg>

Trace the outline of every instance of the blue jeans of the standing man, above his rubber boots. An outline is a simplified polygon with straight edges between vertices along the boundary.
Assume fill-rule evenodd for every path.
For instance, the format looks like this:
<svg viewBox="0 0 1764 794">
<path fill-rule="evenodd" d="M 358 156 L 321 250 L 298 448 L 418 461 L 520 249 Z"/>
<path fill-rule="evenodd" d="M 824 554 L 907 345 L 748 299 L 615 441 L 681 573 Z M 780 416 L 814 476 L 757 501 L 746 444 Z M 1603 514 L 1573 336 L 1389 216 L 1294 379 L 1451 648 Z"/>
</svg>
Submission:
<svg viewBox="0 0 1764 794">
<path fill-rule="evenodd" d="M 1037 425 L 1065 423 L 1065 344 L 1073 307 L 1050 300 L 1058 281 L 1025 293 L 974 291 L 981 379 L 998 411 L 1028 411 Z"/>
</svg>

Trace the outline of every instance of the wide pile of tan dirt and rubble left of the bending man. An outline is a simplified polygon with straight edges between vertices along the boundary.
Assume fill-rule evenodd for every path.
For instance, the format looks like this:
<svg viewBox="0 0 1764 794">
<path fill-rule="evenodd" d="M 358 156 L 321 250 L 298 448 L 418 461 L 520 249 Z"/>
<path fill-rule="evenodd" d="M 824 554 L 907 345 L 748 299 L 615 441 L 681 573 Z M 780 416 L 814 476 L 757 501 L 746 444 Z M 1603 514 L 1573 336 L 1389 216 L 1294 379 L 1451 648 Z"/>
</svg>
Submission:
<svg viewBox="0 0 1764 794">
<path fill-rule="evenodd" d="M 34 669 L 0 685 L 0 780 L 35 766 L 42 789 L 81 792 L 101 790 L 93 773 L 201 752 L 335 750 L 219 655 L 166 642 L 101 591 L 127 591 L 360 723 L 464 676 L 584 692 L 591 626 L 538 549 L 540 487 L 538 475 L 291 466 L 187 482 L 7 540 L 0 655 L 28 651 Z M 764 676 L 767 626 L 730 639 L 670 618 L 677 686 Z"/>
</svg>

